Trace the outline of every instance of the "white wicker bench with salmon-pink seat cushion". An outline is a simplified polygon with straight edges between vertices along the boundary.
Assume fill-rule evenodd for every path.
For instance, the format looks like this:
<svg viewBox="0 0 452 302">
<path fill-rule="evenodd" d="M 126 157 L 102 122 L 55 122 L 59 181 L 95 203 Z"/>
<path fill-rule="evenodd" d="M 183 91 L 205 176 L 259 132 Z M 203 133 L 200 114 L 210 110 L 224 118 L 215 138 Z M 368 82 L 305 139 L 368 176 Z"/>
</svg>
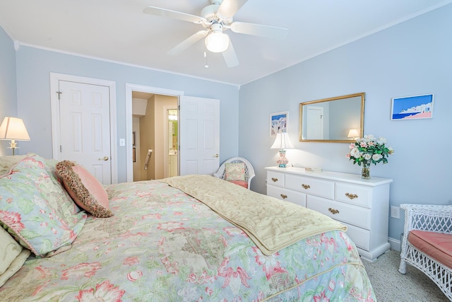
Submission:
<svg viewBox="0 0 452 302">
<path fill-rule="evenodd" d="M 424 272 L 452 301 L 452 206 L 400 204 L 405 210 L 399 272 Z"/>
</svg>

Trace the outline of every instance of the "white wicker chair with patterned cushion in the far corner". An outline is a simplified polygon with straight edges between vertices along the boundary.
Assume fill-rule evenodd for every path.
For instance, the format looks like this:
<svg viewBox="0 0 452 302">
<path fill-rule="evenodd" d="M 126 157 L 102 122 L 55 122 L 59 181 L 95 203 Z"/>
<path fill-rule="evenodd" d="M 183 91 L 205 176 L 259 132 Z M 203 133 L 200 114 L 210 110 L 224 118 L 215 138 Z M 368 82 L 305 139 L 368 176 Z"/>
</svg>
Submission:
<svg viewBox="0 0 452 302">
<path fill-rule="evenodd" d="M 233 157 L 222 163 L 217 173 L 213 173 L 213 176 L 234 182 L 250 190 L 251 179 L 254 178 L 254 169 L 245 158 Z"/>
</svg>

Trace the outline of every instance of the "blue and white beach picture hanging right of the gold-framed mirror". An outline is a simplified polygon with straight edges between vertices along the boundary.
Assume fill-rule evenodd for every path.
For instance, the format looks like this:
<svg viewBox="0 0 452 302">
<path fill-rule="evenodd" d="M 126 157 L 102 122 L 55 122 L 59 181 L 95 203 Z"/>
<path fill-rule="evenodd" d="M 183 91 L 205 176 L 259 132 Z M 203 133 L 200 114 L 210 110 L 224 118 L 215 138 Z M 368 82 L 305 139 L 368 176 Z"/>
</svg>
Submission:
<svg viewBox="0 0 452 302">
<path fill-rule="evenodd" d="M 433 93 L 393 98 L 391 120 L 431 119 Z"/>
</svg>

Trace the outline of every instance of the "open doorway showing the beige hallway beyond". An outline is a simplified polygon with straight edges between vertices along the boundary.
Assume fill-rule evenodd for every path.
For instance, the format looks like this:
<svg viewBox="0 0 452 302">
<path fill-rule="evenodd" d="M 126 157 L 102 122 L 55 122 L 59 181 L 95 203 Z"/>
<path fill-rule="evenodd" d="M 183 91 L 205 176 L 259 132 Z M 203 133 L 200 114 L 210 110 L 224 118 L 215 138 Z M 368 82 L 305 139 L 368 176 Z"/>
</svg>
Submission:
<svg viewBox="0 0 452 302">
<path fill-rule="evenodd" d="M 178 98 L 132 91 L 133 181 L 179 175 Z"/>
</svg>

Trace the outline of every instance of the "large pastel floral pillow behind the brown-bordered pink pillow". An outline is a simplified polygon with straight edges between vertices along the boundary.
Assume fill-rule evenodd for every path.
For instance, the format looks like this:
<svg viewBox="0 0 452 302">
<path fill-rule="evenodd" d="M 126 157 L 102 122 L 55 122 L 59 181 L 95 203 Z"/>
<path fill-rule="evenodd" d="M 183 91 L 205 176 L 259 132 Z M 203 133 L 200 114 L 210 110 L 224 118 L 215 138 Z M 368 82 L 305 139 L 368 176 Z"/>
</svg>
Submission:
<svg viewBox="0 0 452 302">
<path fill-rule="evenodd" d="M 0 226 L 37 257 L 67 249 L 81 232 L 86 214 L 73 214 L 66 199 L 64 188 L 55 185 L 47 172 L 44 158 L 25 157 L 0 177 Z"/>
</svg>

